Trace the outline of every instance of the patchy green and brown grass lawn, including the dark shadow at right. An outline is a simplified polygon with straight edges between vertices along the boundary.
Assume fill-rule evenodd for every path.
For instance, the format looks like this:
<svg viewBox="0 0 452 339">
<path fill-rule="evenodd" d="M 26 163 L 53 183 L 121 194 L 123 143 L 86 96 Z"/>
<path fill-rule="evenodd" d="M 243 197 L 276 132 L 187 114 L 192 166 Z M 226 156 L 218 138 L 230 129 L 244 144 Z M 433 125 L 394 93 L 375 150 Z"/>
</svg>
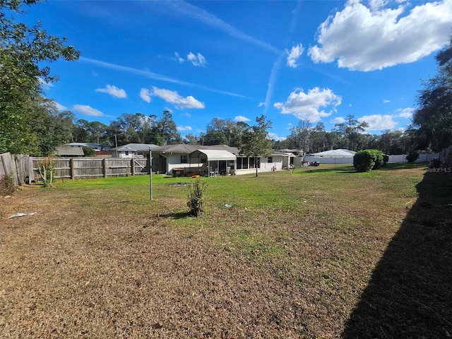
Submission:
<svg viewBox="0 0 452 339">
<path fill-rule="evenodd" d="M 368 173 L 321 165 L 293 174 L 203 178 L 208 188 L 201 218 L 187 214 L 183 184 L 194 180 L 153 175 L 153 201 L 149 176 L 57 180 L 54 189 L 36 185 L 4 199 L 0 333 L 6 338 L 452 333 L 447 321 L 452 298 L 443 296 L 450 297 L 446 277 L 452 276 L 450 174 L 426 174 L 422 164 Z M 6 219 L 18 212 L 37 214 Z M 420 256 L 410 244 L 425 253 Z M 436 280 L 410 285 L 408 276 L 428 280 L 415 268 L 425 270 L 427 258 L 430 273 L 440 266 Z M 410 268 L 402 277 L 393 270 L 403 270 L 400 263 Z M 392 288 L 392 297 L 405 306 L 388 306 L 391 295 L 379 295 L 379 287 Z M 31 311 L 30 304 L 36 305 Z M 413 307 L 420 311 L 405 315 Z"/>
</svg>

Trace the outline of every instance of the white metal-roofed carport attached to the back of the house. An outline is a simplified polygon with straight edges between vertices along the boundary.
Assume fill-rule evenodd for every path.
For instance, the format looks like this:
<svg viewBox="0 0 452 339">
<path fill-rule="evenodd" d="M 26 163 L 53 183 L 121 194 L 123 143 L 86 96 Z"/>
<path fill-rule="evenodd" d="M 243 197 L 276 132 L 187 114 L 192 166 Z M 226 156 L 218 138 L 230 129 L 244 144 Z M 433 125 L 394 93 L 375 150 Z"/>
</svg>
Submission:
<svg viewBox="0 0 452 339">
<path fill-rule="evenodd" d="M 213 177 L 218 174 L 229 174 L 230 169 L 235 169 L 237 157 L 227 150 L 195 150 L 189 154 L 190 163 L 197 159 L 198 164 L 203 164 L 203 174 Z M 206 167 L 204 166 L 206 164 Z M 229 167 L 229 168 L 228 168 Z"/>
</svg>

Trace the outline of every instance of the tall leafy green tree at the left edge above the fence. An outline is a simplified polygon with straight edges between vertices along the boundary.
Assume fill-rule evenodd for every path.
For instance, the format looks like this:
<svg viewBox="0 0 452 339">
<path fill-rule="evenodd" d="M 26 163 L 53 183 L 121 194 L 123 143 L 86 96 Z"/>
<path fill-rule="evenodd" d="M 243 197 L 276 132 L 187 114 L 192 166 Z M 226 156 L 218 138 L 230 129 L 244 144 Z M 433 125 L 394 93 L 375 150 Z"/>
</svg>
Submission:
<svg viewBox="0 0 452 339">
<path fill-rule="evenodd" d="M 0 153 L 30 153 L 39 136 L 30 112 L 37 106 L 41 82 L 57 81 L 46 61 L 78 59 L 79 52 L 66 39 L 47 34 L 40 23 L 29 27 L 16 22 L 23 4 L 35 0 L 0 1 Z"/>
</svg>

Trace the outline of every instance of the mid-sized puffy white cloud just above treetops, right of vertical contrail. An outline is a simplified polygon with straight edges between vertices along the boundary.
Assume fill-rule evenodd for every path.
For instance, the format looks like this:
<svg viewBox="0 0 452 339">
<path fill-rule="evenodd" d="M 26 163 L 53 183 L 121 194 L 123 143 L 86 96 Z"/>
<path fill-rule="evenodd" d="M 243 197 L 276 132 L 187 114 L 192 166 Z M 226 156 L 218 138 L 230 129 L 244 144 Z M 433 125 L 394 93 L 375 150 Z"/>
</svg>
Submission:
<svg viewBox="0 0 452 339">
<path fill-rule="evenodd" d="M 318 87 L 308 90 L 304 93 L 302 89 L 295 89 L 287 97 L 286 102 L 276 102 L 273 105 L 275 108 L 281 110 L 283 114 L 293 114 L 298 119 L 309 119 L 311 122 L 316 122 L 321 117 L 328 117 L 332 110 L 325 112 L 323 107 L 337 107 L 340 105 L 342 98 L 335 95 L 332 90 Z M 332 108 L 333 109 L 333 108 Z"/>
</svg>

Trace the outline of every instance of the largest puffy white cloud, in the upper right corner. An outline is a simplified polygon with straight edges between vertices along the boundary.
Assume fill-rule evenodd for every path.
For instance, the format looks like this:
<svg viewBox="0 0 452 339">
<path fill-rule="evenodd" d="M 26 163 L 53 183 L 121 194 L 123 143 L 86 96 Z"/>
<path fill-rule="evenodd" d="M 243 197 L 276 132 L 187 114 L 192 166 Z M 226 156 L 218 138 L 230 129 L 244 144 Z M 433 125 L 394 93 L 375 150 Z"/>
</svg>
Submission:
<svg viewBox="0 0 452 339">
<path fill-rule="evenodd" d="M 368 8 L 349 1 L 343 11 L 329 16 L 319 27 L 318 45 L 309 48 L 309 57 L 315 63 L 337 59 L 340 68 L 373 71 L 417 61 L 448 43 L 451 0 L 420 4 L 405 16 L 409 4 L 371 4 Z"/>
</svg>

